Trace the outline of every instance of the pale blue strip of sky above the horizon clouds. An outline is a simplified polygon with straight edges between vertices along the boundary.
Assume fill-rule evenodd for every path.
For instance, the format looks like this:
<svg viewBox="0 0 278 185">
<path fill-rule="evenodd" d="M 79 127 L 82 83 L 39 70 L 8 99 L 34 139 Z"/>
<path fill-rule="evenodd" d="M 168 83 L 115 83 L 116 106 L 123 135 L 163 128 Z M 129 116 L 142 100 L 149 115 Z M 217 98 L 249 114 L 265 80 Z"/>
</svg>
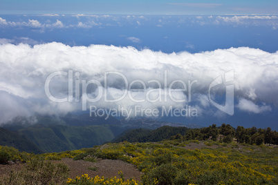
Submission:
<svg viewBox="0 0 278 185">
<path fill-rule="evenodd" d="M 278 1 L 1 0 L 0 14 L 277 14 Z"/>
</svg>

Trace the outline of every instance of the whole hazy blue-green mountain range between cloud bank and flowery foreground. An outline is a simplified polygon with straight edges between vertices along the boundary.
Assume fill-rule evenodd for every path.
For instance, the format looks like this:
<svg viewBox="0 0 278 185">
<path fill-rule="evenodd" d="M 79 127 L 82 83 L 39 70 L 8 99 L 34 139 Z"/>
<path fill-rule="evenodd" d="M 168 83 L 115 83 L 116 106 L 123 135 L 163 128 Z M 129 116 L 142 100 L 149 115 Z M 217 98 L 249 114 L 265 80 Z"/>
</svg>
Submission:
<svg viewBox="0 0 278 185">
<path fill-rule="evenodd" d="M 15 117 L 2 125 L 0 145 L 14 146 L 30 153 L 53 153 L 89 148 L 112 140 L 157 142 L 178 133 L 185 134 L 187 126 L 198 128 L 196 125 L 142 117 L 120 120 L 115 117 L 90 117 L 89 114 Z"/>
</svg>

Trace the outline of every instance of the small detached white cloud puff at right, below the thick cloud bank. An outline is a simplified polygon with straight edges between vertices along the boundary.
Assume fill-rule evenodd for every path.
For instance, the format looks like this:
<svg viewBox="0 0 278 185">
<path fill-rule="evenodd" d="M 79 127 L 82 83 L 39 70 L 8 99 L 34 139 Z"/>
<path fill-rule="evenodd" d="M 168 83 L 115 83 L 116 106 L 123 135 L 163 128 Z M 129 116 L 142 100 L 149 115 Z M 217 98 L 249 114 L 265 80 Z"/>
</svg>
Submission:
<svg viewBox="0 0 278 185">
<path fill-rule="evenodd" d="M 239 104 L 237 105 L 237 107 L 239 108 L 239 110 L 243 110 L 243 111 L 247 111 L 249 113 L 264 113 L 267 111 L 271 110 L 270 106 L 258 106 L 256 104 L 254 104 L 252 101 L 248 100 L 248 99 L 239 99 Z"/>
</svg>

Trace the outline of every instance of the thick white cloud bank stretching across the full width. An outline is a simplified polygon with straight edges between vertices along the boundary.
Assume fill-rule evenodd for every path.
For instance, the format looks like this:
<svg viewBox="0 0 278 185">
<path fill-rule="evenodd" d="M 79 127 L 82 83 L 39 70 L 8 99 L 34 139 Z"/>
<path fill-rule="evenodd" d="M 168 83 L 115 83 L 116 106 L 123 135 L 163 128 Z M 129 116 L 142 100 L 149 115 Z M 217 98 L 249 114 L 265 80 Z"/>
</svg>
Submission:
<svg viewBox="0 0 278 185">
<path fill-rule="evenodd" d="M 195 54 L 166 54 L 148 49 L 136 50 L 133 47 L 71 47 L 55 42 L 32 47 L 24 43 L 13 45 L 8 42 L 7 39 L 0 45 L 1 123 L 17 115 L 80 111 L 85 94 L 95 98 L 100 90 L 104 92 L 104 72 L 122 74 L 129 85 L 133 81 L 129 90 L 131 97 L 145 101 L 135 102 L 125 96 L 121 101 L 105 102 L 104 97 L 101 97 L 96 102 L 87 102 L 87 108 L 90 105 L 98 108 L 117 108 L 119 105 L 124 108 L 137 105 L 142 108 L 184 108 L 190 105 L 198 110 L 199 115 L 214 115 L 215 111 L 208 99 L 208 89 L 214 79 L 229 70 L 234 70 L 232 84 L 237 110 L 259 114 L 271 111 L 271 106 L 278 106 L 278 52 L 230 48 Z M 66 75 L 57 75 L 51 79 L 51 95 L 57 98 L 68 97 L 68 79 L 72 71 L 73 101 L 55 103 L 46 96 L 46 79 L 57 71 L 66 72 Z M 123 77 L 111 73 L 106 77 L 107 98 L 121 97 L 125 90 Z M 82 80 L 88 82 L 92 79 L 100 81 L 100 84 L 87 86 L 86 92 L 82 90 Z M 183 92 L 176 90 L 170 95 L 169 86 L 177 80 L 172 89 L 184 89 L 185 86 L 187 89 Z M 192 84 L 189 95 L 189 83 L 194 80 L 196 83 Z M 142 84 L 146 85 L 145 90 L 142 90 Z M 76 93 L 76 89 L 80 92 Z M 216 87 L 212 91 L 216 96 L 219 92 L 225 93 L 225 86 Z M 154 101 L 159 99 L 159 95 L 162 95 L 162 101 Z M 176 102 L 171 96 L 185 101 Z M 147 101 L 146 97 L 154 102 Z M 165 97 L 167 101 L 164 101 Z"/>
</svg>

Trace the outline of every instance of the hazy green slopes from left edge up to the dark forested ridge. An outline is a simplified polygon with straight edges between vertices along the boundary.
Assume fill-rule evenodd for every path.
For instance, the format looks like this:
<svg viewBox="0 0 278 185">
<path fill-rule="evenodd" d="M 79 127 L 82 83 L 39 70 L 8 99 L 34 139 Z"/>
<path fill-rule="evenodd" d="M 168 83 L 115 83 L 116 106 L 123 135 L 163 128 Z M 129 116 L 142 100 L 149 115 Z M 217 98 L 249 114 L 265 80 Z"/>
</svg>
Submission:
<svg viewBox="0 0 278 185">
<path fill-rule="evenodd" d="M 34 124 L 36 123 L 36 124 Z M 123 130 L 114 117 L 66 115 L 15 117 L 1 125 L 0 145 L 28 153 L 52 153 L 89 148 L 110 142 Z"/>
</svg>

